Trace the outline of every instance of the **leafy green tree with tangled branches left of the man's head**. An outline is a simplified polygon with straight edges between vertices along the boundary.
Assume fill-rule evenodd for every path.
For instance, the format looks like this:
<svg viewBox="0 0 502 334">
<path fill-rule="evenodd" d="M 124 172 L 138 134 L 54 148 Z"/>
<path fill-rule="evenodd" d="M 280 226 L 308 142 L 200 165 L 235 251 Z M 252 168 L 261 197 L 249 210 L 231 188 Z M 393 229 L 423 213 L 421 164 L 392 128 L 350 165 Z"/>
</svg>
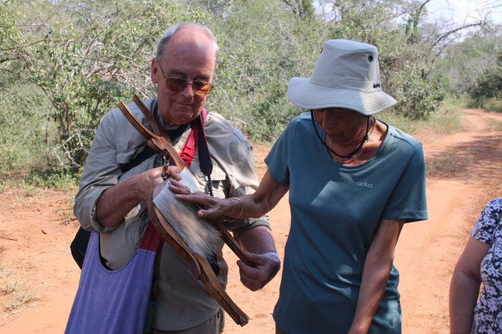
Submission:
<svg viewBox="0 0 502 334">
<path fill-rule="evenodd" d="M 157 38 L 203 13 L 167 1 L 27 1 L 1 5 L 0 70 L 33 84 L 51 103 L 60 162 L 85 162 L 101 116 L 132 92 L 151 95 Z M 38 10 L 33 10 L 37 8 Z"/>
</svg>

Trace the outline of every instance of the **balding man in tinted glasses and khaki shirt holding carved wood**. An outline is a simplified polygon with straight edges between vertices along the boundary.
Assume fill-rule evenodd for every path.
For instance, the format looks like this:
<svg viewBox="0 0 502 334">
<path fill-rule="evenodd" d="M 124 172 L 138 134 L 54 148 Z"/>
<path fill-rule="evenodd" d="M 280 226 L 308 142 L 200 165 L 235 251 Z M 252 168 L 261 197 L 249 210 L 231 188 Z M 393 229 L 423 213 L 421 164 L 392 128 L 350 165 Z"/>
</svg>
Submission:
<svg viewBox="0 0 502 334">
<path fill-rule="evenodd" d="M 200 114 L 206 114 L 204 104 L 212 88 L 217 57 L 214 36 L 207 28 L 195 24 L 170 27 L 158 43 L 151 65 L 158 97 L 143 102 L 168 130 L 178 151 L 184 147 Z M 140 121 L 147 123 L 134 104 L 128 106 Z M 190 165 L 199 181 L 199 190 L 221 198 L 253 193 L 258 178 L 249 141 L 214 112 L 207 113 L 202 126 L 205 138 L 199 137 Z M 142 154 L 147 150 L 146 140 L 114 109 L 101 120 L 82 174 L 74 214 L 84 229 L 100 233 L 101 256 L 111 269 L 127 263 L 139 247 L 149 221 L 146 201 L 153 188 L 163 182 L 162 159 L 157 154 Z M 212 164 L 212 171 L 204 175 L 201 166 L 208 163 Z M 244 219 L 235 226 L 232 223 L 233 233 L 249 252 L 246 257 L 253 264 L 238 262 L 240 279 L 249 289 L 257 290 L 280 267 L 268 218 Z M 222 245 L 212 266 L 224 285 L 228 270 L 221 248 Z M 160 255 L 153 327 L 159 333 L 223 330 L 219 305 L 167 243 Z"/>
</svg>

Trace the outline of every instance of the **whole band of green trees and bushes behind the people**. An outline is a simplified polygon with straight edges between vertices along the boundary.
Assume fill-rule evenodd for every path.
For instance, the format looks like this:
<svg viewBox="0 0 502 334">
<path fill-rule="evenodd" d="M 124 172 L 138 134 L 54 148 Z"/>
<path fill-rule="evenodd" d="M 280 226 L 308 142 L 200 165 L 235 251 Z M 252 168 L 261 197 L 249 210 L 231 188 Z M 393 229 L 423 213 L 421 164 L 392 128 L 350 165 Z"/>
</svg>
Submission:
<svg viewBox="0 0 502 334">
<path fill-rule="evenodd" d="M 78 168 L 104 113 L 120 100 L 130 101 L 133 93 L 155 96 L 150 80 L 155 44 L 168 26 L 189 21 L 208 26 L 220 45 L 216 87 L 207 108 L 223 114 L 252 140 L 274 140 L 301 112 L 288 101 L 288 81 L 309 77 L 322 43 L 335 38 L 375 45 L 383 88 L 398 100 L 394 112 L 427 118 L 437 110 L 447 79 L 452 78 L 444 70 L 444 60 L 450 59 L 453 45 L 461 44 L 456 41 L 459 32 L 486 28 L 481 21 L 431 22 L 429 2 L 2 1 L 0 104 L 8 108 L 31 104 L 33 108 L 23 108 L 23 113 L 45 130 L 47 155 L 56 153 L 59 165 Z M 474 36 L 476 47 L 471 51 L 479 50 L 479 45 L 490 48 L 479 34 Z M 468 38 L 463 43 L 473 41 Z M 482 54 L 493 58 L 488 52 Z M 438 63 L 442 71 L 434 71 Z M 449 66 L 458 68 L 453 62 Z M 469 71 L 460 73 L 464 72 Z M 478 86 L 492 85 L 495 74 L 484 73 L 486 84 L 480 77 Z M 29 93 L 10 98 L 21 89 Z M 42 97 L 43 103 L 37 101 Z M 0 122 L 12 123 L 15 115 L 4 112 Z M 0 139 L 12 149 L 16 144 L 9 136 L 0 130 Z"/>
</svg>

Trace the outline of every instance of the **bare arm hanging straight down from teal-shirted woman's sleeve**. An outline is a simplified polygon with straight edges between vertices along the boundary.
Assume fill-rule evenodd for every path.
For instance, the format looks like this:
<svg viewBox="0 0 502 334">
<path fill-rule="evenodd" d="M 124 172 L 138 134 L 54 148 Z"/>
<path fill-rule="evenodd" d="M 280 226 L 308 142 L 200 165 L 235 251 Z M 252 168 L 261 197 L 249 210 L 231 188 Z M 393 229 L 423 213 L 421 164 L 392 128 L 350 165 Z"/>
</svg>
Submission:
<svg viewBox="0 0 502 334">
<path fill-rule="evenodd" d="M 384 295 L 394 249 L 403 228 L 404 219 L 382 219 L 376 228 L 362 269 L 361 288 L 349 334 L 366 333 Z"/>
</svg>

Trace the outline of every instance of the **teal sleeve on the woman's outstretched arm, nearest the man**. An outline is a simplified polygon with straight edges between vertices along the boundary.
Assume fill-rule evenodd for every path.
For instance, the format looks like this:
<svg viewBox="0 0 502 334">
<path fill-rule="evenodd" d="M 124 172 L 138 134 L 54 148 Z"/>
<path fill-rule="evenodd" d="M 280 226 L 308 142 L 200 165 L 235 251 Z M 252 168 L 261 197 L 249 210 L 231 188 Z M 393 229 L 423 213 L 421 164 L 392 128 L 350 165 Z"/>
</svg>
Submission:
<svg viewBox="0 0 502 334">
<path fill-rule="evenodd" d="M 296 133 L 296 121 L 297 119 L 295 118 L 289 123 L 265 158 L 270 175 L 278 183 L 287 187 L 289 187 L 290 183 L 289 152 Z"/>
</svg>

